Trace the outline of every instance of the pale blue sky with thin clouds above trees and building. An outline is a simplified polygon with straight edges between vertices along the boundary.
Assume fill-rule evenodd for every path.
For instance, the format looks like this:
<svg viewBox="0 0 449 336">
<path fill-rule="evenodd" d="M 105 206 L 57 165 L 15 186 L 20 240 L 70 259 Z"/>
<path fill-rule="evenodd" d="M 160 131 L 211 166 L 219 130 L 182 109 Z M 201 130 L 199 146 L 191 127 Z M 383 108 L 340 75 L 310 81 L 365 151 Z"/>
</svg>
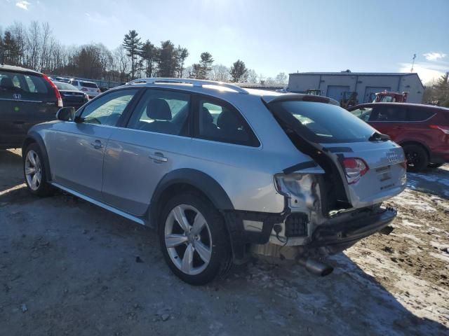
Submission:
<svg viewBox="0 0 449 336">
<path fill-rule="evenodd" d="M 49 22 L 67 45 L 116 48 L 129 29 L 158 43 L 242 59 L 265 77 L 281 71 L 449 71 L 449 0 L 0 0 L 0 25 Z"/>
</svg>

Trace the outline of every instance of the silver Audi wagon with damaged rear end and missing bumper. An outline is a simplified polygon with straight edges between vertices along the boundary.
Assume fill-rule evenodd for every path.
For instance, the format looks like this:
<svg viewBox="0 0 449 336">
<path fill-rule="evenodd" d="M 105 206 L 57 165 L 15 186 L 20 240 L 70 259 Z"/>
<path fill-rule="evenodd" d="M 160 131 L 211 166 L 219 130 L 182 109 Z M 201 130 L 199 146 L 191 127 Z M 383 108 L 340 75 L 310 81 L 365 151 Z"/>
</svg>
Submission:
<svg viewBox="0 0 449 336">
<path fill-rule="evenodd" d="M 332 268 L 316 258 L 386 229 L 396 211 L 381 204 L 406 186 L 402 148 L 332 102 L 134 80 L 34 126 L 25 181 L 33 194 L 60 188 L 155 228 L 187 283 L 250 255 L 325 275 Z"/>
</svg>

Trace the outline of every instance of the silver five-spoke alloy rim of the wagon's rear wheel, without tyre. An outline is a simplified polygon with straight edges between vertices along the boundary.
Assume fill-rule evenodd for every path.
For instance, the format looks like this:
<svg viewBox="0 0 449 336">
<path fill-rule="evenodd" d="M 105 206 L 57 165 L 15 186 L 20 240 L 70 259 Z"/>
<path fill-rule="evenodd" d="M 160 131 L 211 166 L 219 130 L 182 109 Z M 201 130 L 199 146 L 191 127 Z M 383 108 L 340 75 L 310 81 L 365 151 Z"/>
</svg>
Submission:
<svg viewBox="0 0 449 336">
<path fill-rule="evenodd" d="M 164 234 L 168 255 L 177 269 L 189 275 L 206 269 L 212 255 L 212 238 L 198 209 L 177 205 L 167 216 Z"/>
</svg>

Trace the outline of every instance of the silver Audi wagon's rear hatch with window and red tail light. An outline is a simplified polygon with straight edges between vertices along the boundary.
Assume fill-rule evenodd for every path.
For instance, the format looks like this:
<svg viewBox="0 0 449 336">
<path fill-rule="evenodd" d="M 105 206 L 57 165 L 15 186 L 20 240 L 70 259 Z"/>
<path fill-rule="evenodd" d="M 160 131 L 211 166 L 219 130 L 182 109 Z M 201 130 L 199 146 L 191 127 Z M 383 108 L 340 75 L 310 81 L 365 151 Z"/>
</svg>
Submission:
<svg viewBox="0 0 449 336">
<path fill-rule="evenodd" d="M 327 174 L 339 175 L 351 206 L 368 207 L 401 193 L 406 184 L 401 146 L 340 106 L 327 104 L 326 97 L 307 97 L 286 94 L 267 105 L 298 149 Z"/>
</svg>

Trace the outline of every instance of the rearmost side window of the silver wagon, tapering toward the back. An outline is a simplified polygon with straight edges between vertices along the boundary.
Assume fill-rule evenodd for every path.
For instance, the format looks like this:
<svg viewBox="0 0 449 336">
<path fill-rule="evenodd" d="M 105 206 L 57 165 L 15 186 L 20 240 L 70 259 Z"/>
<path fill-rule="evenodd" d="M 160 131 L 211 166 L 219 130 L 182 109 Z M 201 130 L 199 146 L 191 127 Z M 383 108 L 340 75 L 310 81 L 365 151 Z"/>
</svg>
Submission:
<svg viewBox="0 0 449 336">
<path fill-rule="evenodd" d="M 215 99 L 199 100 L 196 137 L 243 146 L 258 147 L 259 141 L 239 111 Z"/>
</svg>

